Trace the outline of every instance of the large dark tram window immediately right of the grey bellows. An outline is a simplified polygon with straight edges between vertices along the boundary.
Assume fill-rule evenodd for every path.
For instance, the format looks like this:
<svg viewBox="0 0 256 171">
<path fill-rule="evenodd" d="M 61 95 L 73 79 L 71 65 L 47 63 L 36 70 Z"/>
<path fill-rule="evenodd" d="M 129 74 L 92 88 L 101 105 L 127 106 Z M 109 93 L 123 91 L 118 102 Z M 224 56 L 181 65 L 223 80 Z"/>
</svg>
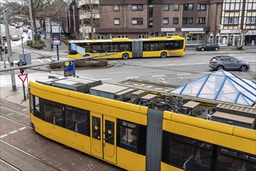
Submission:
<svg viewBox="0 0 256 171">
<path fill-rule="evenodd" d="M 163 131 L 162 161 L 183 169 L 209 170 L 211 151 L 207 143 Z"/>
</svg>

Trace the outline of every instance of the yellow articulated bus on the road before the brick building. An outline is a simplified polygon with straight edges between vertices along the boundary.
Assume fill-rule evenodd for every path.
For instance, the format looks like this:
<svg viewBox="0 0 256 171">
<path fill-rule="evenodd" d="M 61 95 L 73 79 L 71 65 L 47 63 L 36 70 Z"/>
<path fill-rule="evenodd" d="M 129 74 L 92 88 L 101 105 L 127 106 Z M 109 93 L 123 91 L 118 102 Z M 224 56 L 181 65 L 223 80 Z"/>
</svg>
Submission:
<svg viewBox="0 0 256 171">
<path fill-rule="evenodd" d="M 79 53 L 77 47 L 85 49 Z M 185 54 L 185 39 L 180 36 L 149 37 L 148 39 L 113 38 L 111 40 L 71 40 L 68 42 L 68 58 L 116 53 L 97 59 L 174 57 Z"/>
</svg>

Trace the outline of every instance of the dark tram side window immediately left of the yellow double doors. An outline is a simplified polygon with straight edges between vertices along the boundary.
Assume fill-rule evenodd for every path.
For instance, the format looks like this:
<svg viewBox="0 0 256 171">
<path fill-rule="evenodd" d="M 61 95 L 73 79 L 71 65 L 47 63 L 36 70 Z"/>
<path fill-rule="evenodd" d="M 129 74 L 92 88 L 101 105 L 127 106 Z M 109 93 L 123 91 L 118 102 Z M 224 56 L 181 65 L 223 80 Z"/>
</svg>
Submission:
<svg viewBox="0 0 256 171">
<path fill-rule="evenodd" d="M 66 106 L 65 127 L 89 136 L 89 111 Z"/>
</svg>

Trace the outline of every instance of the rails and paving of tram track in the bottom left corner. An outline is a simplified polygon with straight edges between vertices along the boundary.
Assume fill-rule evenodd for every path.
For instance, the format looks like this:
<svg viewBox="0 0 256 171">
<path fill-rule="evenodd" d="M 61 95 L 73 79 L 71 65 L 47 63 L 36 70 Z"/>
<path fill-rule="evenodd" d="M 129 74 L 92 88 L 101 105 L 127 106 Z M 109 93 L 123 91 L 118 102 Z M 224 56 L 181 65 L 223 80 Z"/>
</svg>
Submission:
<svg viewBox="0 0 256 171">
<path fill-rule="evenodd" d="M 27 166 L 27 164 L 26 164 L 26 166 L 23 166 L 23 162 L 16 161 L 16 159 L 13 159 L 13 158 L 8 159 L 8 156 L 6 157 L 6 155 L 2 155 L 1 161 L 5 162 L 6 164 L 8 164 L 9 166 L 13 167 L 16 170 L 28 170 L 28 169 L 33 170 L 33 169 L 40 168 L 40 169 L 44 169 L 44 170 L 61 171 L 61 169 L 58 169 L 57 167 L 52 166 L 51 164 L 49 164 L 47 162 L 44 162 L 43 159 L 39 159 L 34 155 L 30 155 L 29 153 L 24 152 L 23 150 L 16 148 L 15 146 L 10 145 L 9 143 L 7 143 L 5 141 L 0 140 L 0 143 L 1 143 L 2 148 L 5 147 L 5 149 L 8 149 L 8 152 L 12 151 L 12 153 L 16 153 L 16 156 L 23 155 L 22 159 L 26 159 L 26 161 L 28 161 L 28 160 L 30 161 L 30 162 L 26 162 L 26 163 L 30 163 L 30 166 Z M 2 151 L 3 151 L 3 149 L 2 149 Z M 13 151 L 16 151 L 16 152 L 13 152 Z M 5 153 L 5 152 L 3 152 L 3 153 Z M 3 159 L 3 157 L 5 157 L 6 159 Z M 13 163 L 15 163 L 15 164 L 13 164 Z"/>
</svg>

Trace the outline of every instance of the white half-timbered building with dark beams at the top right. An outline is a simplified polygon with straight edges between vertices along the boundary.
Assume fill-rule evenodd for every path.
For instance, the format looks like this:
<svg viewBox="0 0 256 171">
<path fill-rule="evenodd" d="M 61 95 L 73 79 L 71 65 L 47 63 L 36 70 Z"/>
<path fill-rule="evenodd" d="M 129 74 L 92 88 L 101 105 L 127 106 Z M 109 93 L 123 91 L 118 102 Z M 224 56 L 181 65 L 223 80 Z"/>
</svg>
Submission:
<svg viewBox="0 0 256 171">
<path fill-rule="evenodd" d="M 256 0 L 223 0 L 219 45 L 254 45 L 256 41 Z"/>
</svg>

